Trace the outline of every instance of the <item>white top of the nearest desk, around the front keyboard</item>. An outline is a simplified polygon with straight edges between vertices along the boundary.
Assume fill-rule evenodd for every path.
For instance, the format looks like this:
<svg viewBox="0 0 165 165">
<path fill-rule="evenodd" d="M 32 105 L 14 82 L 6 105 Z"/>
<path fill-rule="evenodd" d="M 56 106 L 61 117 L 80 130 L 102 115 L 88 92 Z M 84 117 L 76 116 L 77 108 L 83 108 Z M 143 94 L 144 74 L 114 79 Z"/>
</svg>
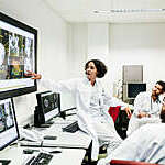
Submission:
<svg viewBox="0 0 165 165">
<path fill-rule="evenodd" d="M 23 165 L 28 156 L 32 156 L 31 154 L 23 154 L 23 148 L 21 146 L 7 147 L 0 152 L 0 158 L 11 160 L 10 165 Z M 44 152 L 44 148 L 41 152 Z M 48 165 L 81 165 L 85 154 L 85 150 L 62 148 L 62 153 L 53 154 Z"/>
</svg>

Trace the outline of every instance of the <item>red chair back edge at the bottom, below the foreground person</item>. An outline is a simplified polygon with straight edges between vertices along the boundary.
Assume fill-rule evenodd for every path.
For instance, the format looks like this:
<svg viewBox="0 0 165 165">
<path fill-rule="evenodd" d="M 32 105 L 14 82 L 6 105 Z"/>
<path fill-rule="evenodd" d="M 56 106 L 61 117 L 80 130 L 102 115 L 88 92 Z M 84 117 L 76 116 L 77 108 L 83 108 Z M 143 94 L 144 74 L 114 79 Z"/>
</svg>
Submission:
<svg viewBox="0 0 165 165">
<path fill-rule="evenodd" d="M 161 164 L 136 162 L 136 161 L 112 160 L 110 162 L 110 165 L 161 165 Z"/>
</svg>

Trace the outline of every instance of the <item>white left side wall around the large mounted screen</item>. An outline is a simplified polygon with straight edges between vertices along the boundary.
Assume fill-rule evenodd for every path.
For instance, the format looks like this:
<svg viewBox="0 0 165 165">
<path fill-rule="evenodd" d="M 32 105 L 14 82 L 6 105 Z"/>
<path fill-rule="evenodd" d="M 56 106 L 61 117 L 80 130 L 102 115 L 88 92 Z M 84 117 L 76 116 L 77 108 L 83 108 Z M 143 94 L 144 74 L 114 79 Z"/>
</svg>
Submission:
<svg viewBox="0 0 165 165">
<path fill-rule="evenodd" d="M 58 80 L 72 77 L 73 61 L 68 54 L 69 25 L 58 18 L 43 0 L 0 0 L 0 11 L 38 30 L 38 73 Z M 32 120 L 35 94 L 14 98 L 20 124 Z"/>
</svg>

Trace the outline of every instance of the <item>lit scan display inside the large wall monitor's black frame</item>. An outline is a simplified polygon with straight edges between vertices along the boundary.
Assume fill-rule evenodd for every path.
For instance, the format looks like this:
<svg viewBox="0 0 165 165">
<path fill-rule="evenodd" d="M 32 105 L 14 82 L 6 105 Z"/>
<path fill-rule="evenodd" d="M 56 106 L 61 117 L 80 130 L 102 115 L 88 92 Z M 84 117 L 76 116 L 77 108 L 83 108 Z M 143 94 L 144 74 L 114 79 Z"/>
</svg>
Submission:
<svg viewBox="0 0 165 165">
<path fill-rule="evenodd" d="M 33 86 L 25 75 L 35 72 L 34 34 L 0 21 L 0 91 Z"/>
</svg>

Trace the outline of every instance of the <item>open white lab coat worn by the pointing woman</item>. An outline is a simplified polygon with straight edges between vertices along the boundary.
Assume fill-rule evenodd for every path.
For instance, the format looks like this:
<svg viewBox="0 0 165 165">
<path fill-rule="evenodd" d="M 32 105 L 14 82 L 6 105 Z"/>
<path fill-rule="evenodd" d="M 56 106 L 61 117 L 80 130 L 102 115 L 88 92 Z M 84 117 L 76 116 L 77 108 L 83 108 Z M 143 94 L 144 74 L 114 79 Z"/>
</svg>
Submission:
<svg viewBox="0 0 165 165">
<path fill-rule="evenodd" d="M 99 154 L 99 139 L 97 134 L 97 130 L 94 125 L 92 117 L 90 116 L 90 97 L 91 97 L 91 84 L 90 81 L 84 78 L 75 78 L 69 80 L 63 80 L 55 82 L 53 80 L 42 78 L 40 80 L 41 85 L 55 91 L 55 92 L 72 92 L 72 95 L 76 98 L 76 107 L 77 107 L 77 117 L 79 128 L 86 131 L 92 139 L 92 150 L 91 150 L 91 158 L 98 160 Z M 120 139 L 114 129 L 114 123 L 112 118 L 108 113 L 108 107 L 110 106 L 127 106 L 122 101 L 118 100 L 113 97 L 108 97 L 103 92 L 103 88 L 101 82 L 97 79 L 97 87 L 99 92 L 100 107 L 102 107 L 102 114 L 105 120 L 107 120 L 107 124 L 109 124 L 109 130 L 114 132 L 113 136 Z M 108 105 L 108 107 L 106 106 Z M 111 135 L 110 135 L 111 136 Z"/>
</svg>

